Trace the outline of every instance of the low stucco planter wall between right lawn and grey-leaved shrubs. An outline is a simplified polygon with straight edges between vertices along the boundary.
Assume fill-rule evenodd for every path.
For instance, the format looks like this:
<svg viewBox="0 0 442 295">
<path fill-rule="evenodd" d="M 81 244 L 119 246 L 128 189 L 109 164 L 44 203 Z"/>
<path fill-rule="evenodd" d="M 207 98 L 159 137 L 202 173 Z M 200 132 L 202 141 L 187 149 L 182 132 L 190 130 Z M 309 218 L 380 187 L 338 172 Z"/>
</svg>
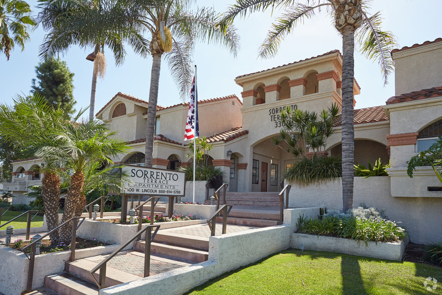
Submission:
<svg viewBox="0 0 442 295">
<path fill-rule="evenodd" d="M 405 252 L 406 242 L 364 242 L 358 243 L 356 240 L 309 235 L 294 233 L 292 234 L 291 247 L 299 249 L 300 245 L 304 245 L 304 250 L 327 251 L 335 253 L 343 253 L 350 255 L 358 255 L 372 258 L 402 260 Z"/>
</svg>

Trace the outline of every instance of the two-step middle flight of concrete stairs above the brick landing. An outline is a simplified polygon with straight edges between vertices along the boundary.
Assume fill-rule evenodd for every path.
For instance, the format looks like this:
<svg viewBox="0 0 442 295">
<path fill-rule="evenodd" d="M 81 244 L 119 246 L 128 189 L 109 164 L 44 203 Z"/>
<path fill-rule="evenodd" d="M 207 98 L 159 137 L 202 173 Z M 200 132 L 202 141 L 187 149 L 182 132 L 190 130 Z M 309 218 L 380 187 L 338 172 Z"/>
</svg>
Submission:
<svg viewBox="0 0 442 295">
<path fill-rule="evenodd" d="M 208 258 L 208 237 L 158 231 L 150 244 L 151 253 L 167 255 L 193 263 L 206 261 Z M 135 249 L 144 251 L 145 242 L 135 242 Z"/>
</svg>

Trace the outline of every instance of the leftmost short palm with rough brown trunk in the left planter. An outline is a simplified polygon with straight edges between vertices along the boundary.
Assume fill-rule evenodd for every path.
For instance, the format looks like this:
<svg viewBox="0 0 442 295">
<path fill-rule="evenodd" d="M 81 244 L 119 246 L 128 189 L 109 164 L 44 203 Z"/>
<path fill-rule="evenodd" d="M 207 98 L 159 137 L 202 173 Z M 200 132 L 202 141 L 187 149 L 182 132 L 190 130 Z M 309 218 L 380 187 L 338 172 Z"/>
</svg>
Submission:
<svg viewBox="0 0 442 295">
<path fill-rule="evenodd" d="M 0 105 L 0 134 L 14 142 L 22 149 L 23 158 L 34 157 L 42 146 L 57 146 L 59 140 L 54 140 L 52 133 L 62 129 L 70 120 L 77 120 L 83 114 L 80 111 L 76 117 L 70 117 L 60 107 L 54 109 L 47 104 L 44 97 L 34 94 L 30 97 L 19 96 L 14 105 Z M 48 155 L 41 155 L 44 171 L 42 177 L 42 196 L 45 206 L 48 230 L 58 226 L 58 211 L 60 201 L 60 178 L 57 174 L 59 161 Z M 51 234 L 52 244 L 57 244 L 58 233 Z"/>
</svg>

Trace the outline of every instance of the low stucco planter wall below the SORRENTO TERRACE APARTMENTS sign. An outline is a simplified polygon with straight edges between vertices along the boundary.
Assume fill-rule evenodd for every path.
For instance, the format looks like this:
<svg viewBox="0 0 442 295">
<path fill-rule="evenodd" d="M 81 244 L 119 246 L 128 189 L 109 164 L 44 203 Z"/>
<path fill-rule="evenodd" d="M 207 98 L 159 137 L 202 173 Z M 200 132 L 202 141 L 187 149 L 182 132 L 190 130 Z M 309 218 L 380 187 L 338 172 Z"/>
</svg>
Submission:
<svg viewBox="0 0 442 295">
<path fill-rule="evenodd" d="M 187 221 L 171 221 L 155 223 L 159 224 L 160 229 L 168 229 L 172 227 L 181 227 L 187 225 L 205 223 L 205 220 L 187 220 Z M 146 227 L 149 224 L 143 224 L 142 227 Z M 77 236 L 85 239 L 97 239 L 99 241 L 109 244 L 125 244 L 138 232 L 138 224 L 123 225 L 118 223 L 101 222 L 94 220 L 85 220 L 83 224 L 77 230 Z M 144 234 L 143 234 L 144 236 Z M 133 242 L 130 243 L 125 249 L 132 249 Z"/>
</svg>

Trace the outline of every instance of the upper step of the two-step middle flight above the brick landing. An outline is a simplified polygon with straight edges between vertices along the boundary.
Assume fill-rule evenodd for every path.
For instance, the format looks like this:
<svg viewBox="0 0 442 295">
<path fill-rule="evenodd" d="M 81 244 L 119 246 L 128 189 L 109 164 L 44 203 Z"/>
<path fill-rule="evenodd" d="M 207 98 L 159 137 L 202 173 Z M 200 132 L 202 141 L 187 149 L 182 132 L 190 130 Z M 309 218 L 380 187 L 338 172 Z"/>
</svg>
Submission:
<svg viewBox="0 0 442 295">
<path fill-rule="evenodd" d="M 168 243 L 184 248 L 202 249 L 208 251 L 207 237 L 189 236 L 186 234 L 159 231 L 153 239 L 156 243 Z"/>
</svg>

